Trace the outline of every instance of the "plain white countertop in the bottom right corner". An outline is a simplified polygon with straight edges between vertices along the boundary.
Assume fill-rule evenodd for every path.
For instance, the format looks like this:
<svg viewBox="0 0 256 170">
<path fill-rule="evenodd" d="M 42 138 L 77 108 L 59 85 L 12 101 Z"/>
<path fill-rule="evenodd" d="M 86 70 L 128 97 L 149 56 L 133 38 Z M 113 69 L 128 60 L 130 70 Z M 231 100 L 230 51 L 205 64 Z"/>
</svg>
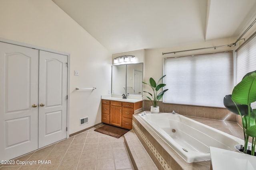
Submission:
<svg viewBox="0 0 256 170">
<path fill-rule="evenodd" d="M 210 147 L 213 170 L 256 170 L 256 156 Z"/>
</svg>

